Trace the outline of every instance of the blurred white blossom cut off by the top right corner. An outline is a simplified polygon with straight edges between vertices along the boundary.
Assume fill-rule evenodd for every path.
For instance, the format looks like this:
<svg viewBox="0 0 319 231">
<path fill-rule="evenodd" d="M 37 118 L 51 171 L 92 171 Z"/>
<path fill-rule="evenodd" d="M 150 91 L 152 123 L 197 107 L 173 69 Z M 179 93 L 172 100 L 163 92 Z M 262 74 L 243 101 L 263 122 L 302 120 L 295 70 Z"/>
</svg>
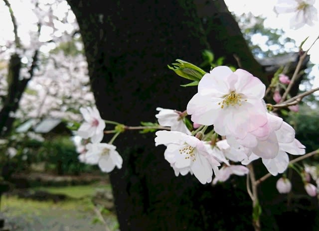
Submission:
<svg viewBox="0 0 319 231">
<path fill-rule="evenodd" d="M 314 25 L 314 21 L 318 20 L 318 11 L 313 5 L 315 0 L 278 0 L 274 7 L 277 14 L 294 13 L 290 20 L 292 29 L 299 29 L 308 24 Z"/>
</svg>

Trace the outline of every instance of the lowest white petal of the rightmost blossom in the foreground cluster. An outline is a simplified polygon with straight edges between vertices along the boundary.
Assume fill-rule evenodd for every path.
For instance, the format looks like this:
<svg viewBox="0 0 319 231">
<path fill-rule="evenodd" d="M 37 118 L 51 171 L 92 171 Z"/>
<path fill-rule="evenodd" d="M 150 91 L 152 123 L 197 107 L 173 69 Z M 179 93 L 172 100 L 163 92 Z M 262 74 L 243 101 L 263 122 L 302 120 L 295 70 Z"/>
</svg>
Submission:
<svg viewBox="0 0 319 231">
<path fill-rule="evenodd" d="M 278 173 L 283 173 L 289 163 L 289 157 L 286 152 L 279 151 L 278 155 L 273 159 L 262 159 L 263 164 L 267 168 L 270 174 L 277 176 Z"/>
</svg>

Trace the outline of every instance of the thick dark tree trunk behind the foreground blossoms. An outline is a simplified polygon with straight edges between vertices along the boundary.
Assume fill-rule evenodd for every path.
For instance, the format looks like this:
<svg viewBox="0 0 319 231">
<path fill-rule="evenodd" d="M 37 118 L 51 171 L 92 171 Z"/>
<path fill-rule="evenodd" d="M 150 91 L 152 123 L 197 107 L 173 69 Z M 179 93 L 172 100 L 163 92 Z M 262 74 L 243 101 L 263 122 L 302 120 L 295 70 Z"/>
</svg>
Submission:
<svg viewBox="0 0 319 231">
<path fill-rule="evenodd" d="M 236 49 L 243 66 L 252 65 L 257 74 L 261 70 L 247 45 L 242 46 L 229 12 L 218 13 L 223 1 L 211 6 L 216 14 L 208 20 L 210 29 L 198 16 L 200 1 L 114 0 L 107 6 L 102 0 L 68 2 L 80 26 L 92 90 L 105 119 L 138 125 L 155 121 L 157 107 L 184 110 L 197 89 L 179 87 L 187 81 L 167 64 L 176 58 L 199 64 L 203 49 L 212 48 L 217 57 L 226 55 L 234 66 L 230 50 Z M 114 143 L 124 159 L 122 169 L 110 174 L 122 231 L 252 230 L 245 179 L 211 187 L 190 175 L 175 177 L 163 158 L 164 147 L 155 147 L 154 137 L 132 131 Z"/>
</svg>

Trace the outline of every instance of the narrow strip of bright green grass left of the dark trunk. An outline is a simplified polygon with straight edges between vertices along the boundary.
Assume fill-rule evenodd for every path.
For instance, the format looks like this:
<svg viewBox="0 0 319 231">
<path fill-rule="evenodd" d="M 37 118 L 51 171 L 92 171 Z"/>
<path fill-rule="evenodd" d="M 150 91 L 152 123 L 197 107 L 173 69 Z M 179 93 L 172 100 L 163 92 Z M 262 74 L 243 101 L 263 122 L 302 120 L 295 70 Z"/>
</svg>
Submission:
<svg viewBox="0 0 319 231">
<path fill-rule="evenodd" d="M 99 189 L 111 190 L 111 185 L 79 185 L 79 186 L 65 186 L 65 187 L 36 187 L 32 188 L 34 191 L 45 191 L 52 194 L 64 194 L 74 199 L 90 197 Z"/>
</svg>

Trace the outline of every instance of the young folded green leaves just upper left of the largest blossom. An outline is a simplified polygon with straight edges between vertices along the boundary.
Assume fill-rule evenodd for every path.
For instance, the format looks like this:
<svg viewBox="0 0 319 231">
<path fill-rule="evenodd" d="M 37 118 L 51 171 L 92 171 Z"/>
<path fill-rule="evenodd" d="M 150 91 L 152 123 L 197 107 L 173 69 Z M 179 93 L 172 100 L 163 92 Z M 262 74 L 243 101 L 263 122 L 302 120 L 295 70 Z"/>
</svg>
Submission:
<svg viewBox="0 0 319 231">
<path fill-rule="evenodd" d="M 172 67 L 167 65 L 170 70 L 173 70 L 177 75 L 185 79 L 199 81 L 206 74 L 201 68 L 188 63 L 186 61 L 176 59 L 177 63 L 173 63 Z"/>
</svg>

